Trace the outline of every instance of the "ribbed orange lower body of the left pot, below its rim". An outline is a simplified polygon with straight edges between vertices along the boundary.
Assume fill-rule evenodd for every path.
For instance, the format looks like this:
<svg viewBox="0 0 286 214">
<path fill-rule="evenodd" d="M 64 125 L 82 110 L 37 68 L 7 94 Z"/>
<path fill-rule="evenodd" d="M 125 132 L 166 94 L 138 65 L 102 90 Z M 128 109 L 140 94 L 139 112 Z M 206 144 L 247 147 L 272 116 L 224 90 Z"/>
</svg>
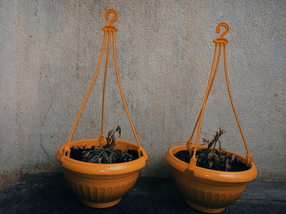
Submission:
<svg viewBox="0 0 286 214">
<path fill-rule="evenodd" d="M 119 203 L 136 183 L 139 172 L 140 170 L 119 175 L 91 175 L 64 169 L 67 184 L 80 201 L 96 208 L 111 207 Z"/>
</svg>

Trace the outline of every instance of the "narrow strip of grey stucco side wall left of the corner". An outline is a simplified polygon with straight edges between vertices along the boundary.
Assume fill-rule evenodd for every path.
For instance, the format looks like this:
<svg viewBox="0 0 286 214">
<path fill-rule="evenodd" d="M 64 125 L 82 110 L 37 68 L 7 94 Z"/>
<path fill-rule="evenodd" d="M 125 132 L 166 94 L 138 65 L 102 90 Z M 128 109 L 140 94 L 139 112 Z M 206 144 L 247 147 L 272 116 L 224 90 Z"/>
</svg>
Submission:
<svg viewBox="0 0 286 214">
<path fill-rule="evenodd" d="M 5 14 L 5 15 L 4 15 Z M 0 181 L 20 167 L 17 129 L 17 54 L 15 5 L 0 3 Z"/>
</svg>

